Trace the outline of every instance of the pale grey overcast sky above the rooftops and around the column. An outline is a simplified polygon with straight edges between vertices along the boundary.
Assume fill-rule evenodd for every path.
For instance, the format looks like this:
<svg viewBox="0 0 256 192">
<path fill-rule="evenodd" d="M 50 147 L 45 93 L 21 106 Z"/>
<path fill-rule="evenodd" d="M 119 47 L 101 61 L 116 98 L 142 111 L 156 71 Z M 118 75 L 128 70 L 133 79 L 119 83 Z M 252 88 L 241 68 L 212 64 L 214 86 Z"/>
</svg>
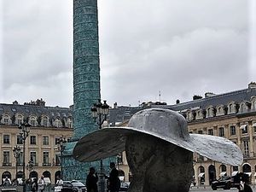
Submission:
<svg viewBox="0 0 256 192">
<path fill-rule="evenodd" d="M 188 102 L 256 81 L 255 0 L 98 0 L 98 9 L 110 106 Z M 72 105 L 73 1 L 2 0 L 0 16 L 0 102 Z"/>
</svg>

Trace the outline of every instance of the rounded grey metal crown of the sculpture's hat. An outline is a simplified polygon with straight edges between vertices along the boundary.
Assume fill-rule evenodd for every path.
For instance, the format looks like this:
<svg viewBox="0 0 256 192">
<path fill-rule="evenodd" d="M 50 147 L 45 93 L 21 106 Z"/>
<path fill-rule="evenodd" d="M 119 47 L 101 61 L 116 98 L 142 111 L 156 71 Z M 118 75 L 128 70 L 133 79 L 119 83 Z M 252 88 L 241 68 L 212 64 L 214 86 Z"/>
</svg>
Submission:
<svg viewBox="0 0 256 192">
<path fill-rule="evenodd" d="M 189 138 L 186 119 L 170 109 L 150 108 L 139 111 L 131 117 L 128 126 L 161 138 Z"/>
</svg>

